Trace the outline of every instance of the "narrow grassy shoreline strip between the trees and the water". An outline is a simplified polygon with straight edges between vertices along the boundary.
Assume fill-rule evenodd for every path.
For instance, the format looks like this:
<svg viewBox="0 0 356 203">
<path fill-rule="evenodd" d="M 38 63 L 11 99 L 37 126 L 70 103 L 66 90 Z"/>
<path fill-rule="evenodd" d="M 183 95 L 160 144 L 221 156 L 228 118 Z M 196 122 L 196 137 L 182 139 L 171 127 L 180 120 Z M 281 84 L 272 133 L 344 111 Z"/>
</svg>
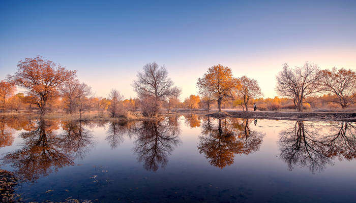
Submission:
<svg viewBox="0 0 356 203">
<path fill-rule="evenodd" d="M 144 118 L 142 116 L 118 117 L 112 118 L 108 114 L 88 113 L 83 114 L 79 119 L 78 114 L 63 114 L 63 113 L 49 113 L 43 116 L 44 119 L 63 119 L 63 120 L 76 120 L 76 121 L 115 121 L 115 122 L 128 122 L 128 121 L 147 121 L 147 120 L 160 120 L 167 116 L 172 115 L 189 115 L 195 114 L 199 116 L 208 116 L 214 118 L 256 118 L 256 119 L 271 119 L 271 120 L 305 120 L 305 121 L 349 121 L 356 122 L 356 112 L 273 112 L 273 111 L 222 111 L 218 113 L 216 110 L 207 113 L 207 111 L 176 111 L 169 114 L 160 112 L 157 118 Z M 41 115 L 36 113 L 0 113 L 4 117 L 18 117 L 25 116 L 28 118 L 40 118 Z"/>
</svg>

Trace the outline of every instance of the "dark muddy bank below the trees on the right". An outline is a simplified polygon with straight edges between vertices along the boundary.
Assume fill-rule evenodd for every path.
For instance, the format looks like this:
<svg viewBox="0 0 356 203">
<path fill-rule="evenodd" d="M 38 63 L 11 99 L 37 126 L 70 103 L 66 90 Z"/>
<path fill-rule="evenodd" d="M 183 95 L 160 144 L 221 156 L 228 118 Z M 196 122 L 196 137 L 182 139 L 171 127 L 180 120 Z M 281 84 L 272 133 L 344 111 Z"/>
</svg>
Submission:
<svg viewBox="0 0 356 203">
<path fill-rule="evenodd" d="M 270 111 L 227 111 L 223 113 L 207 114 L 210 117 L 239 117 L 260 118 L 278 120 L 333 120 L 333 121 L 356 121 L 356 112 L 270 112 Z"/>
</svg>

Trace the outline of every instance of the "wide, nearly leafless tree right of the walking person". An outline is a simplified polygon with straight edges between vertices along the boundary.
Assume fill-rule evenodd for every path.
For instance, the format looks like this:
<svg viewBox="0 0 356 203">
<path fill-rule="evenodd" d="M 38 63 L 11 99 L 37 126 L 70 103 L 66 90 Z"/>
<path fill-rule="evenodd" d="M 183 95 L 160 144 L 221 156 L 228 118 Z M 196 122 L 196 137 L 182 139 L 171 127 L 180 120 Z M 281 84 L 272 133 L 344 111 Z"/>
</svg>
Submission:
<svg viewBox="0 0 356 203">
<path fill-rule="evenodd" d="M 303 103 L 308 96 L 320 92 L 319 67 L 308 61 L 302 67 L 291 69 L 286 63 L 276 76 L 276 91 L 281 96 L 293 100 L 294 107 L 299 112 L 303 111 Z"/>
</svg>

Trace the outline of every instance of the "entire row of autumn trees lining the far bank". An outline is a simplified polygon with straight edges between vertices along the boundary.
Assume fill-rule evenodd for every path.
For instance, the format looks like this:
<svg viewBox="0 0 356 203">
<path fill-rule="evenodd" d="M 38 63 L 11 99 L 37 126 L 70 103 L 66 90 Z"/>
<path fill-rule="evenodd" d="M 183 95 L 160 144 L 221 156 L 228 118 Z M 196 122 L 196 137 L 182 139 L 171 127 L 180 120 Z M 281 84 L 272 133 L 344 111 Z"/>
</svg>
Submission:
<svg viewBox="0 0 356 203">
<path fill-rule="evenodd" d="M 246 76 L 235 78 L 229 67 L 220 64 L 210 67 L 198 78 L 199 95 L 191 95 L 183 103 L 179 99 L 182 90 L 174 86 L 167 69 L 156 62 L 147 63 L 137 73 L 137 79 L 132 84 L 137 98 L 130 100 L 124 100 L 124 96 L 115 89 L 108 98 L 94 97 L 91 87 L 77 80 L 76 71 L 67 70 L 41 56 L 21 60 L 17 66 L 15 74 L 0 82 L 3 112 L 6 109 L 19 110 L 22 105 L 30 110 L 35 106 L 42 115 L 49 108 L 56 107 L 68 113 L 79 112 L 80 115 L 84 110 L 108 110 L 113 117 L 140 109 L 143 116 L 151 117 L 157 116 L 163 106 L 168 113 L 171 109 L 182 107 L 209 111 L 215 104 L 219 112 L 222 105 L 240 106 L 248 111 L 252 103 L 263 100 L 256 80 Z M 276 79 L 276 91 L 282 96 L 281 99 L 289 99 L 298 111 L 303 111 L 312 98 L 322 94 L 328 94 L 329 102 L 343 109 L 356 102 L 356 74 L 352 70 L 320 70 L 316 64 L 309 62 L 294 68 L 284 64 Z M 16 86 L 25 89 L 26 93 L 14 95 Z M 272 110 L 278 109 L 278 105 L 274 106 L 275 102 L 269 104 Z"/>
</svg>

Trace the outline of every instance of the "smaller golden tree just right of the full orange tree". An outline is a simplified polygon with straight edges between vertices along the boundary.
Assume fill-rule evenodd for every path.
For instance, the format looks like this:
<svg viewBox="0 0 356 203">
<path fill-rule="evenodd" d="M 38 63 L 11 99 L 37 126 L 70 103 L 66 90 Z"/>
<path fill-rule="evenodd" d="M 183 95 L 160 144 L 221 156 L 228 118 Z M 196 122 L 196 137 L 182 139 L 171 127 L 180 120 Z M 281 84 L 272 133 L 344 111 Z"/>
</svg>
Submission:
<svg viewBox="0 0 356 203">
<path fill-rule="evenodd" d="M 240 85 L 238 88 L 236 88 L 236 92 L 243 101 L 246 111 L 248 111 L 248 104 L 250 103 L 251 99 L 261 97 L 263 94 L 255 79 L 243 76 L 238 78 L 238 81 L 240 82 Z"/>
</svg>

